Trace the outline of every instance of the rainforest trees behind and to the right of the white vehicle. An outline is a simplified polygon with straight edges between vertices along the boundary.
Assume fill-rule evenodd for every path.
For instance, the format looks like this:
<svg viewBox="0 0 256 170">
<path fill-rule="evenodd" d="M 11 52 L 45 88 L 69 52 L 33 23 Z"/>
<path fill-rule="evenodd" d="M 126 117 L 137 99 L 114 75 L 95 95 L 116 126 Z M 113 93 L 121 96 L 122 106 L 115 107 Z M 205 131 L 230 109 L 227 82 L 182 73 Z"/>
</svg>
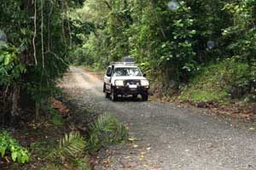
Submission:
<svg viewBox="0 0 256 170">
<path fill-rule="evenodd" d="M 251 101 L 255 8 L 255 0 L 88 0 L 72 15 L 92 26 L 90 35 L 81 35 L 84 44 L 74 50 L 73 61 L 102 70 L 110 61 L 134 56 L 164 93 L 186 88 L 180 99 L 222 101 L 250 94 Z M 206 71 L 218 71 L 218 77 Z M 208 78 L 215 81 L 209 84 Z M 203 96 L 195 96 L 201 90 Z"/>
</svg>

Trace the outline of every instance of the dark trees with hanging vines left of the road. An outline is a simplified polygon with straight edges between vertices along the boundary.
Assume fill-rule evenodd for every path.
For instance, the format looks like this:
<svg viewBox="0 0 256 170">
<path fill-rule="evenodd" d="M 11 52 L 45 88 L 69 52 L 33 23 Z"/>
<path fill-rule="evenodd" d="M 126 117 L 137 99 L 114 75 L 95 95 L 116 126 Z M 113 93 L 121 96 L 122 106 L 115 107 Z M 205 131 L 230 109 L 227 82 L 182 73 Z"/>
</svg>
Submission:
<svg viewBox="0 0 256 170">
<path fill-rule="evenodd" d="M 68 17 L 79 0 L 0 1 L 0 122 L 47 105 L 81 28 Z M 82 26 L 82 25 L 81 25 Z"/>
</svg>

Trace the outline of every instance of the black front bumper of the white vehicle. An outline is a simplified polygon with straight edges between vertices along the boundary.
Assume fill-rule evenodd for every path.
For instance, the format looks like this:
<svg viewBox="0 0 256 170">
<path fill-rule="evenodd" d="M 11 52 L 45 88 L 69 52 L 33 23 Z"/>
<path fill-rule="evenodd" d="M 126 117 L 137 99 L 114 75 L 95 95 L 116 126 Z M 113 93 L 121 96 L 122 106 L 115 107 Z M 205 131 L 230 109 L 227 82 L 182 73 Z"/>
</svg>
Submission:
<svg viewBox="0 0 256 170">
<path fill-rule="evenodd" d="M 137 86 L 137 88 L 129 88 L 129 86 L 122 86 L 122 87 L 117 87 L 114 86 L 112 88 L 113 93 L 115 94 L 121 94 L 121 95 L 131 95 L 131 94 L 148 94 L 148 87 L 143 87 L 143 86 Z"/>
</svg>

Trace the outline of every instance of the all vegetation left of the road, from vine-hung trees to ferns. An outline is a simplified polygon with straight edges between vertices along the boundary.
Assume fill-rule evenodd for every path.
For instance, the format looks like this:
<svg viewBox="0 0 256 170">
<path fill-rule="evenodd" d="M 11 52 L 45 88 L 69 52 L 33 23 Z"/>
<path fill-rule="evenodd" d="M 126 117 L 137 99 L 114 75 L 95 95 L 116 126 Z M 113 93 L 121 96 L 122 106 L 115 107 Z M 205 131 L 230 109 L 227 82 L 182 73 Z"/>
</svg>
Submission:
<svg viewBox="0 0 256 170">
<path fill-rule="evenodd" d="M 73 19 L 83 4 L 0 0 L 0 169 L 89 170 L 89 151 L 126 140 L 126 127 L 111 114 L 90 120 L 86 133 L 79 127 L 81 134 L 67 106 L 55 99 L 73 48 L 95 28 Z"/>
</svg>

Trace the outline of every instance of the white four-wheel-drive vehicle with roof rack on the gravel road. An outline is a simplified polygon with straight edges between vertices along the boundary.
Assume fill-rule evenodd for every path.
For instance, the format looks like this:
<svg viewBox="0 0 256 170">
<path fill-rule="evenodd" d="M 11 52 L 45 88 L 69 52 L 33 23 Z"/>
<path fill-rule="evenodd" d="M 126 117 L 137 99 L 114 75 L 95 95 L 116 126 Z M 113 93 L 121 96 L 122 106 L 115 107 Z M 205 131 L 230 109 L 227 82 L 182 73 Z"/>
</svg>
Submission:
<svg viewBox="0 0 256 170">
<path fill-rule="evenodd" d="M 108 66 L 103 85 L 106 98 L 116 101 L 119 95 L 137 98 L 140 94 L 143 101 L 147 101 L 148 89 L 148 80 L 134 62 L 119 62 Z"/>
</svg>

